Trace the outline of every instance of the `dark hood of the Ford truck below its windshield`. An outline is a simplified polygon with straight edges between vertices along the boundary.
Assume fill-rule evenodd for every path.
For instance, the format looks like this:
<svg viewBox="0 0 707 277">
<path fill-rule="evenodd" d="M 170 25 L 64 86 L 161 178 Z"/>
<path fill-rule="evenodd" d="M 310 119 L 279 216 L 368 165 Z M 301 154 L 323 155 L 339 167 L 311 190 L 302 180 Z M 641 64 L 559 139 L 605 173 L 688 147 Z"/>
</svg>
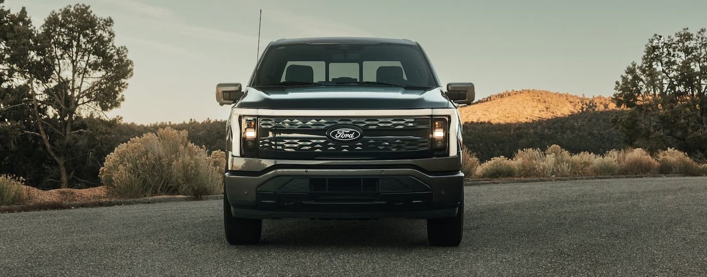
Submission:
<svg viewBox="0 0 707 277">
<path fill-rule="evenodd" d="M 452 104 L 441 88 L 409 90 L 375 86 L 247 88 L 235 107 L 288 110 L 435 109 Z"/>
</svg>

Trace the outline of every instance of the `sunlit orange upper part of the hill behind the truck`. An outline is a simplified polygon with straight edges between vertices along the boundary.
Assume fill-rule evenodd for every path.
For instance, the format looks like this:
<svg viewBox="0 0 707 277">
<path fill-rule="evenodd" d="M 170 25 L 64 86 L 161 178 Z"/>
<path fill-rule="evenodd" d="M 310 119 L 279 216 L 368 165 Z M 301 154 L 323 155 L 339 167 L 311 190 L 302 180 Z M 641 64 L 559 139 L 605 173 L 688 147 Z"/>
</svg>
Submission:
<svg viewBox="0 0 707 277">
<path fill-rule="evenodd" d="M 510 90 L 483 98 L 459 110 L 463 122 L 494 124 L 534 122 L 579 112 L 617 110 L 611 98 L 586 98 L 547 90 Z"/>
</svg>

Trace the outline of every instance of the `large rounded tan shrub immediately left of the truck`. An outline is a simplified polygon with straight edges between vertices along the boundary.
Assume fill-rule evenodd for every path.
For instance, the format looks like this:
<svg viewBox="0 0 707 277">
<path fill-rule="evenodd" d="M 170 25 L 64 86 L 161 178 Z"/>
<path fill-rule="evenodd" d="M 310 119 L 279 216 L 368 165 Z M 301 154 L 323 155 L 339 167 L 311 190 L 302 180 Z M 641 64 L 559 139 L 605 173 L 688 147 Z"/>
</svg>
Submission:
<svg viewBox="0 0 707 277">
<path fill-rule="evenodd" d="M 226 158 L 211 155 L 187 139 L 187 131 L 167 127 L 120 144 L 100 169 L 103 184 L 118 196 L 161 194 L 202 196 L 222 189 Z"/>
</svg>

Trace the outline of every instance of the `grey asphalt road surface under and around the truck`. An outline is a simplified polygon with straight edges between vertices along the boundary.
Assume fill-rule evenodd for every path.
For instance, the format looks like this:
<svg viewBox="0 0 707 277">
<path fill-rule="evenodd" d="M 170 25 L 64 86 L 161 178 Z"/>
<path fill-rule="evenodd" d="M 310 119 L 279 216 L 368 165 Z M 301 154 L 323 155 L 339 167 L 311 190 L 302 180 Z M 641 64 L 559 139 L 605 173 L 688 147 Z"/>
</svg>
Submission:
<svg viewBox="0 0 707 277">
<path fill-rule="evenodd" d="M 266 220 L 221 201 L 0 214 L 0 276 L 707 276 L 707 177 L 466 187 L 460 247 L 423 220 Z"/>
</svg>

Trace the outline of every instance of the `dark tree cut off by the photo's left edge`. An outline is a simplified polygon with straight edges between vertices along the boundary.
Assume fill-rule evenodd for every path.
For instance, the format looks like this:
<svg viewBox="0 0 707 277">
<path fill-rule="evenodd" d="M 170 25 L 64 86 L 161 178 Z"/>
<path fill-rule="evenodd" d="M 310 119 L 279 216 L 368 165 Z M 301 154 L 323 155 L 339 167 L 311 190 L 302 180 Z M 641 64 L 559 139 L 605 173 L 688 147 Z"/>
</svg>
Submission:
<svg viewBox="0 0 707 277">
<path fill-rule="evenodd" d="M 26 134 L 34 124 L 24 77 L 41 78 L 41 64 L 33 59 L 38 42 L 25 8 L 12 13 L 3 4 L 0 0 L 0 174 L 37 181 L 47 155 L 40 139 Z"/>
</svg>

